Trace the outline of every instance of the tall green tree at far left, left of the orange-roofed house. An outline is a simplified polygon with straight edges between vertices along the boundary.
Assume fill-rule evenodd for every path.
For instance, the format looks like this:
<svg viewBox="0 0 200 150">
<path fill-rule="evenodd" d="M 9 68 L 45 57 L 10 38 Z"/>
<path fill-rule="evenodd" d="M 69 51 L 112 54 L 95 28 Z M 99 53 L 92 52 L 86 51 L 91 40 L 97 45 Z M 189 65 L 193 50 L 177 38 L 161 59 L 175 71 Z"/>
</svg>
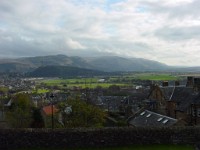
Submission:
<svg viewBox="0 0 200 150">
<path fill-rule="evenodd" d="M 31 107 L 32 104 L 28 94 L 17 94 L 6 114 L 7 121 L 14 128 L 30 127 L 32 121 Z"/>
</svg>

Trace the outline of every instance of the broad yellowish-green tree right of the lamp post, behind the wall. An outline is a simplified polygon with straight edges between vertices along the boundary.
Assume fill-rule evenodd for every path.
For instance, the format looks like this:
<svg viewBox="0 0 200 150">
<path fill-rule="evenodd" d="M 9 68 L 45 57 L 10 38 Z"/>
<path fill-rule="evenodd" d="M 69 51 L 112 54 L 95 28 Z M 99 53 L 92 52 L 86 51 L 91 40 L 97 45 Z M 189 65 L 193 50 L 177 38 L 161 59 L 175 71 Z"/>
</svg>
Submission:
<svg viewBox="0 0 200 150">
<path fill-rule="evenodd" d="M 65 109 L 71 107 L 71 113 Z M 59 105 L 64 127 L 101 127 L 105 121 L 105 113 L 98 107 L 79 99 L 71 99 Z"/>
</svg>

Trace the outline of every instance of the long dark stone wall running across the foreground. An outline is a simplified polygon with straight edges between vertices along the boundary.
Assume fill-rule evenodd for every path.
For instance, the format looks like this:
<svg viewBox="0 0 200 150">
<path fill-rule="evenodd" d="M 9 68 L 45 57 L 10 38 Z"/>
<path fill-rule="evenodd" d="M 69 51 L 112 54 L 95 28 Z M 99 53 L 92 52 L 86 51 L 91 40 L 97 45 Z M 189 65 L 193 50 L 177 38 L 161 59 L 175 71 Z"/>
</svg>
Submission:
<svg viewBox="0 0 200 150">
<path fill-rule="evenodd" d="M 200 128 L 2 129 L 0 149 L 200 144 Z"/>
</svg>

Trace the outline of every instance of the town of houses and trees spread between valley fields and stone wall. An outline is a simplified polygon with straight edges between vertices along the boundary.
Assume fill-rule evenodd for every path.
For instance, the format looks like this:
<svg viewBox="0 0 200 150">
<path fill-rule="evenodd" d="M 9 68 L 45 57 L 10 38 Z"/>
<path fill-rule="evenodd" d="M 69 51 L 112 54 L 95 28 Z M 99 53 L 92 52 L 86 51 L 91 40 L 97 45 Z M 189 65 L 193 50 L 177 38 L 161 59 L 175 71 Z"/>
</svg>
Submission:
<svg viewBox="0 0 200 150">
<path fill-rule="evenodd" d="M 158 73 L 157 73 L 158 74 Z M 44 78 L 1 75 L 1 128 L 170 127 L 200 124 L 200 77 L 132 80 L 109 77 L 84 86 L 48 85 Z M 52 81 L 55 79 L 46 79 Z M 126 78 L 121 80 L 126 82 Z M 118 81 L 119 82 L 119 81 Z M 76 81 L 77 83 L 77 81 Z M 108 84 L 107 87 L 101 86 Z M 79 84 L 80 85 L 80 84 Z M 88 85 L 88 86 L 86 86 Z M 123 86 L 122 86 L 123 85 Z M 92 86 L 92 88 L 90 88 Z"/>
</svg>

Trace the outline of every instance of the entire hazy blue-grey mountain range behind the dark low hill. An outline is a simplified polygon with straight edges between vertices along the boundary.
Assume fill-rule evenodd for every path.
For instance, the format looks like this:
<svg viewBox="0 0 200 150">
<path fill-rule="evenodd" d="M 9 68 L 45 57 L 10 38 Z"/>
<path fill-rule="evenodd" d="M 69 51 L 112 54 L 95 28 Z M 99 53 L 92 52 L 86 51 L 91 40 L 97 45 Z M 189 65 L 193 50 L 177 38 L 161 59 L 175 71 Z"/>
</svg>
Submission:
<svg viewBox="0 0 200 150">
<path fill-rule="evenodd" d="M 29 72 L 41 66 L 73 66 L 106 72 L 165 71 L 171 68 L 152 60 L 117 56 L 83 58 L 53 55 L 0 60 L 0 72 Z"/>
</svg>

